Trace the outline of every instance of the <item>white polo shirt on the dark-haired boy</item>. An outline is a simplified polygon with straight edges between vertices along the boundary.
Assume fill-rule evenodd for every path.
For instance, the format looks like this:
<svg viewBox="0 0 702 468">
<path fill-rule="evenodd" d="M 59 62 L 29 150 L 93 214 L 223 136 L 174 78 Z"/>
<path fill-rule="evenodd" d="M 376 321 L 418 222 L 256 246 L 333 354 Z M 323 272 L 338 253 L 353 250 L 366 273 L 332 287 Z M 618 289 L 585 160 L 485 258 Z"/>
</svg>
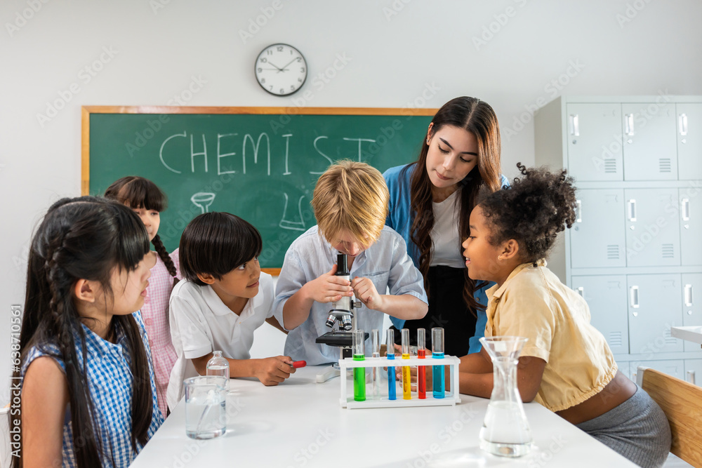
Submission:
<svg viewBox="0 0 702 468">
<path fill-rule="evenodd" d="M 249 359 L 253 332 L 273 316 L 273 279 L 261 272 L 258 294 L 246 303 L 240 315 L 234 314 L 211 286 L 180 281 L 169 302 L 171 337 L 178 360 L 171 370 L 166 400 L 173 409 L 183 398 L 183 380 L 196 377 L 191 359 L 216 350 L 230 359 Z"/>
</svg>

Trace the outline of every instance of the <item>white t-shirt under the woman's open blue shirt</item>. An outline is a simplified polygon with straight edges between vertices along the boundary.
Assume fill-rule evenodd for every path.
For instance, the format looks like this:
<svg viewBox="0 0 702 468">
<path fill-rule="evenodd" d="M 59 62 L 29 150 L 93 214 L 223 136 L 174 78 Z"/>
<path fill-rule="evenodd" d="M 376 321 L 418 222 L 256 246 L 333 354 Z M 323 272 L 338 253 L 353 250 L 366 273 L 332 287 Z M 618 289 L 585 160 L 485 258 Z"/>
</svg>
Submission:
<svg viewBox="0 0 702 468">
<path fill-rule="evenodd" d="M 458 234 L 458 209 L 456 197 L 458 190 L 444 201 L 432 202 L 434 208 L 434 227 L 432 227 L 432 261 L 431 267 L 446 265 L 453 268 L 465 268 L 461 239 Z"/>
</svg>

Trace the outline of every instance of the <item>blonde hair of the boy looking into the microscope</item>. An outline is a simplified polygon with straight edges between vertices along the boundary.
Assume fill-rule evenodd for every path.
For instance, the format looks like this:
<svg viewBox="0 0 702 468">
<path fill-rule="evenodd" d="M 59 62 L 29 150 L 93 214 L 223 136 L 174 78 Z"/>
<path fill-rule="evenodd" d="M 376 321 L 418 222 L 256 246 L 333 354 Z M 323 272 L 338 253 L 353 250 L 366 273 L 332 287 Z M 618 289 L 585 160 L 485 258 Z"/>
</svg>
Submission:
<svg viewBox="0 0 702 468">
<path fill-rule="evenodd" d="M 378 169 L 343 160 L 317 180 L 312 209 L 320 234 L 330 243 L 345 231 L 367 248 L 380 237 L 389 201 L 388 185 Z"/>
</svg>

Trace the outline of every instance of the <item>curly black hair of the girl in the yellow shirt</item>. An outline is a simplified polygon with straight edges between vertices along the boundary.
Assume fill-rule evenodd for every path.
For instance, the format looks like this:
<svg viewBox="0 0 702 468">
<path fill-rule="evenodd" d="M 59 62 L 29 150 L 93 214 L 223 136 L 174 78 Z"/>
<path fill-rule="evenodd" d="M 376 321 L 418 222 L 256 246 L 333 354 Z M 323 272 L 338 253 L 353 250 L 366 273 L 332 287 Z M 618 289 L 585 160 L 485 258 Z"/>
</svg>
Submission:
<svg viewBox="0 0 702 468">
<path fill-rule="evenodd" d="M 576 187 L 567 171 L 529 168 L 517 163 L 522 178 L 511 187 L 483 192 L 478 204 L 491 231 L 488 240 L 499 245 L 509 239 L 519 243 L 521 260 L 536 262 L 552 248 L 556 235 L 576 219 Z"/>
</svg>

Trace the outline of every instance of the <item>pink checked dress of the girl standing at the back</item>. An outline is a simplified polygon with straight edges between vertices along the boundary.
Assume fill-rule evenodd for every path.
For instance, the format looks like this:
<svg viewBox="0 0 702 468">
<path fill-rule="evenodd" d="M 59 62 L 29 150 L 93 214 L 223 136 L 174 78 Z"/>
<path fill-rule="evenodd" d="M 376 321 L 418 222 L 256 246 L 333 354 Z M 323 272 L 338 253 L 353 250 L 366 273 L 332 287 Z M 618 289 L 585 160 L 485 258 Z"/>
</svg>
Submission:
<svg viewBox="0 0 702 468">
<path fill-rule="evenodd" d="M 176 265 L 176 277 L 180 279 L 180 262 L 178 262 L 178 249 L 170 255 Z M 173 276 L 168 273 L 166 264 L 159 255 L 156 255 L 156 265 L 151 269 L 149 287 L 146 288 L 144 306 L 141 314 L 149 335 L 149 346 L 154 357 L 154 377 L 156 380 L 156 393 L 159 397 L 159 408 L 166 415 L 166 390 L 168 380 L 171 379 L 171 370 L 178 360 L 176 348 L 171 340 L 171 325 L 168 321 L 168 300 L 173 290 Z"/>
</svg>

